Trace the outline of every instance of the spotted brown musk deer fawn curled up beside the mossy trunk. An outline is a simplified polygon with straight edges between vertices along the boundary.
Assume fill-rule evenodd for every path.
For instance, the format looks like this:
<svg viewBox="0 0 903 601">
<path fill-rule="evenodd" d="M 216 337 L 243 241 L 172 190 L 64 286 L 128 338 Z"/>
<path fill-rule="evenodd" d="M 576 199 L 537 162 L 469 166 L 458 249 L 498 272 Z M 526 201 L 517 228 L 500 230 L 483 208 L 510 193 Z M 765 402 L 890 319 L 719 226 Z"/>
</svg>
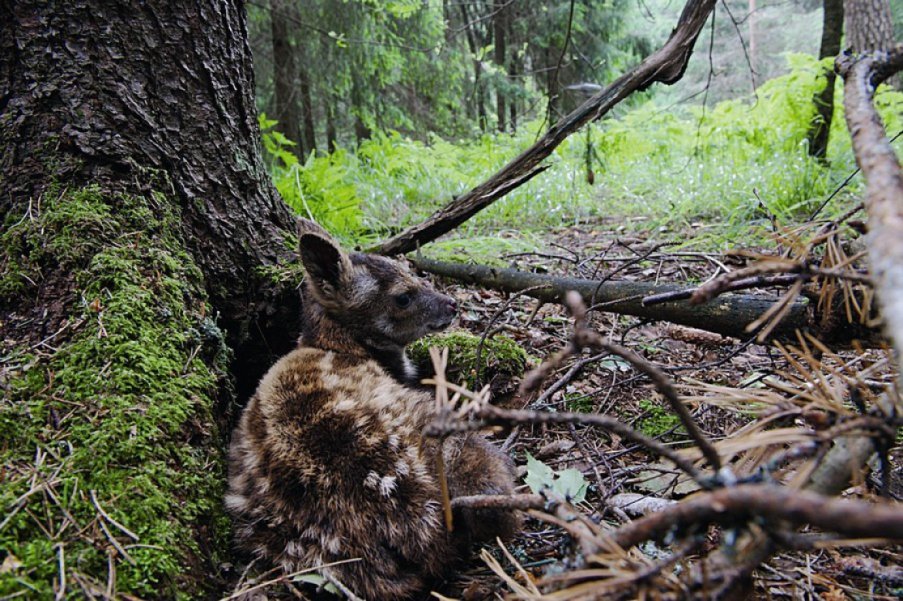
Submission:
<svg viewBox="0 0 903 601">
<path fill-rule="evenodd" d="M 434 403 L 404 347 L 446 328 L 455 302 L 401 263 L 346 254 L 312 222 L 299 222 L 299 242 L 305 329 L 260 381 L 230 449 L 236 538 L 287 572 L 353 560 L 321 572 L 366 599 L 409 598 L 471 541 L 517 524 L 469 510 L 447 532 L 437 454 L 452 497 L 512 492 L 512 465 L 478 434 L 421 436 Z"/>
</svg>

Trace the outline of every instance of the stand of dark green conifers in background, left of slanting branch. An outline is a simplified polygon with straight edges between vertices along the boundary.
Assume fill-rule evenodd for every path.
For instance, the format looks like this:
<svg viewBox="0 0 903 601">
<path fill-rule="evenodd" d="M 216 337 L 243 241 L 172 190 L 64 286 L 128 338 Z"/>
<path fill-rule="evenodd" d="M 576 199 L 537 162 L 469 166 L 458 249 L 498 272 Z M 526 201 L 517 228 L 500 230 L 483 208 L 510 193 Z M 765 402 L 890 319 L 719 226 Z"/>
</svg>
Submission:
<svg viewBox="0 0 903 601">
<path fill-rule="evenodd" d="M 301 154 L 323 148 L 317 138 L 332 148 L 374 130 L 513 131 L 542 115 L 544 97 L 558 115 L 572 103 L 560 90 L 601 81 L 650 47 L 633 33 L 636 9 L 589 0 L 272 0 L 249 10 L 260 107 L 302 122 L 279 126 Z M 285 113 L 284 98 L 300 109 Z"/>
</svg>

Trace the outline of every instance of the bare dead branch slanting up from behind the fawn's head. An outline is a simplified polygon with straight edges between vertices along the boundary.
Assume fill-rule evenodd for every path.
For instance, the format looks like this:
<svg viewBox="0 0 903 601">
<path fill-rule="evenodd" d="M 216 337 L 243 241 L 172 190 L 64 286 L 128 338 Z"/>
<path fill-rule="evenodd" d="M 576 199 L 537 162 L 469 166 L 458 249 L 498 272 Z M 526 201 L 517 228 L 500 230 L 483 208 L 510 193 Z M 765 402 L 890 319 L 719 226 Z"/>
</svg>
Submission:
<svg viewBox="0 0 903 601">
<path fill-rule="evenodd" d="M 479 211 L 524 184 L 542 170 L 540 163 L 569 135 L 586 123 L 605 115 L 633 92 L 655 82 L 672 84 L 683 77 L 687 62 L 703 25 L 715 7 L 715 0 L 688 0 L 668 41 L 604 90 L 563 117 L 533 146 L 505 165 L 485 182 L 434 213 L 426 221 L 370 249 L 384 255 L 404 254 L 470 219 Z"/>
</svg>

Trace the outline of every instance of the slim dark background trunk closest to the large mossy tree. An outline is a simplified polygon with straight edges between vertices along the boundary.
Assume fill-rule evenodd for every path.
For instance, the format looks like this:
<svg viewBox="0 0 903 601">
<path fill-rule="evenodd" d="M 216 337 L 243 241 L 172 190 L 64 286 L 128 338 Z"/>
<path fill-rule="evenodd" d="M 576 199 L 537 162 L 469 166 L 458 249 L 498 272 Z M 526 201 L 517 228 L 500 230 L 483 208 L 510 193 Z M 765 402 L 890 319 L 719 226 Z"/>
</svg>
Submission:
<svg viewBox="0 0 903 601">
<path fill-rule="evenodd" d="M 270 29 L 273 36 L 273 88 L 276 113 L 279 122 L 276 129 L 297 144 L 298 156 L 307 154 L 301 137 L 301 103 L 298 86 L 295 85 L 295 46 L 291 41 L 289 25 L 297 20 L 294 0 L 270 0 Z"/>
</svg>

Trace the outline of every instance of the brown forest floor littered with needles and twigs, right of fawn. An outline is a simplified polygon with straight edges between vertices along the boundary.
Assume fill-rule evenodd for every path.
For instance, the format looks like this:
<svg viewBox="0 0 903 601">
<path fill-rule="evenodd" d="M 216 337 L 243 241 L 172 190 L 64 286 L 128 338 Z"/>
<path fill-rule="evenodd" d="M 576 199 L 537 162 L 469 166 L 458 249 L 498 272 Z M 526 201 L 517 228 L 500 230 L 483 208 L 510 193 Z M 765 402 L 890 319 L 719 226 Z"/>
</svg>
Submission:
<svg viewBox="0 0 903 601">
<path fill-rule="evenodd" d="M 542 250 L 496 256 L 493 264 L 498 265 L 501 259 L 507 266 L 522 271 L 685 284 L 691 288 L 718 272 L 749 264 L 749 257 L 756 253 L 774 252 L 773 248 L 744 248 L 745 254 L 688 251 L 680 244 L 692 239 L 695 232 L 655 230 L 643 234 L 621 225 L 619 220 L 610 219 L 550 231 Z M 677 242 L 663 243 L 668 237 Z M 452 330 L 513 340 L 527 351 L 528 369 L 565 348 L 573 334 L 573 319 L 557 304 L 450 280 L 439 279 L 437 284 L 454 296 L 461 307 Z M 786 289 L 760 289 L 752 293 L 778 299 L 785 292 Z M 805 471 L 804 462 L 772 471 L 763 469 L 763 465 L 840 419 L 838 416 L 844 411 L 841 405 L 848 408 L 848 414 L 854 412 L 849 409 L 851 395 L 845 385 L 852 386 L 854 379 L 860 377 L 856 374 L 867 372 L 867 385 L 875 391 L 891 386 L 896 375 L 886 349 L 853 345 L 835 353 L 834 349 L 813 348 L 817 343 L 811 340 L 795 346 L 757 344 L 752 338 L 728 338 L 601 310 L 590 314 L 589 324 L 607 340 L 633 350 L 668 375 L 697 424 L 742 481 L 792 481 L 795 474 Z M 578 362 L 582 367 L 574 369 Z M 679 418 L 653 383 L 619 357 L 588 352 L 571 357 L 543 386 L 527 396 L 516 392 L 520 383 L 517 378 L 494 378 L 490 374 L 486 379 L 489 381 L 483 383 L 489 384 L 494 393 L 493 405 L 610 415 L 670 448 L 682 449 L 697 465 L 703 464 Z M 551 387 L 557 389 L 549 394 Z M 784 438 L 770 439 L 775 432 Z M 634 493 L 674 502 L 700 490 L 693 480 L 649 449 L 583 424 L 522 425 L 495 431 L 492 436 L 514 459 L 518 493 L 530 492 L 524 478 L 531 457 L 556 475 L 568 469 L 578 470 L 586 481 L 587 492 L 585 499 L 574 506 L 582 516 L 579 519 L 600 526 L 600 532 L 614 531 L 628 519 L 628 514 L 636 517 L 629 506 L 612 507 L 616 495 Z M 891 482 L 895 484 L 889 494 L 899 501 L 903 497 L 903 447 L 899 438 L 889 450 L 889 457 Z M 873 471 L 860 475 L 842 496 L 874 500 L 882 478 L 879 470 Z M 798 534 L 803 540 L 814 533 L 806 529 Z M 436 587 L 432 598 L 504 599 L 510 597 L 512 589 L 520 590 L 518 598 L 537 599 L 709 598 L 705 587 L 702 592 L 690 592 L 685 580 L 690 579 L 706 555 L 719 548 L 730 549 L 731 536 L 728 528 L 707 527 L 684 540 L 677 536 L 678 540 L 647 542 L 629 552 L 621 551 L 614 561 L 590 566 L 595 568 L 590 570 L 586 569 L 586 558 L 578 545 L 559 525 L 525 515 L 516 537 L 502 543 L 504 546 L 486 544 L 475 549 L 454 578 Z M 903 594 L 901 565 L 900 545 L 827 537 L 805 550 L 780 550 L 773 554 L 753 572 L 752 589 L 746 598 L 898 599 Z M 582 574 L 575 576 L 576 570 L 581 569 Z M 613 579 L 621 579 L 623 586 L 607 592 L 600 587 L 594 592 L 594 582 L 607 582 L 606 586 L 610 586 Z M 538 587 L 532 588 L 534 593 L 542 591 L 545 596 L 523 594 L 534 585 Z M 281 584 L 266 592 L 268 598 L 280 599 L 307 594 L 294 586 L 283 589 Z"/>
</svg>

